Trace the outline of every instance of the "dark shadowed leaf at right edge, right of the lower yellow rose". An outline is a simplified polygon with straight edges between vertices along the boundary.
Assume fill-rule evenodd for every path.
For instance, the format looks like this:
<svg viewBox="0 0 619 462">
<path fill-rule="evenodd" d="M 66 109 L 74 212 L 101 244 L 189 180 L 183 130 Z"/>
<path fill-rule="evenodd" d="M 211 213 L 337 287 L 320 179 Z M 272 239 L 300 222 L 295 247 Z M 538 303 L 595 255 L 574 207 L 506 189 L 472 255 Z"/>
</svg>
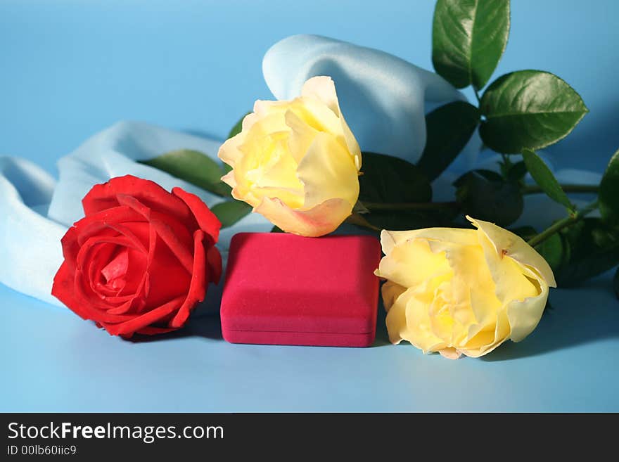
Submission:
<svg viewBox="0 0 619 462">
<path fill-rule="evenodd" d="M 585 218 L 561 231 L 569 258 L 555 277 L 559 287 L 569 287 L 598 276 L 619 264 L 616 229 L 599 218 Z"/>
</svg>

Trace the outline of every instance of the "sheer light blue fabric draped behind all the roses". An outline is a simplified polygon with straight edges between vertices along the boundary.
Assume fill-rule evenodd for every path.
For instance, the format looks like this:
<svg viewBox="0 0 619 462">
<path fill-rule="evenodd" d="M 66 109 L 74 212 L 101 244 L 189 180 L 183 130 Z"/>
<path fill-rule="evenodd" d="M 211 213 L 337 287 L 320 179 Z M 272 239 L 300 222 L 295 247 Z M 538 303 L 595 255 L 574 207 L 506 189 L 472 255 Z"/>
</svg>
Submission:
<svg viewBox="0 0 619 462">
<path fill-rule="evenodd" d="M 343 113 L 363 150 L 419 160 L 426 143 L 424 115 L 437 105 L 464 99 L 442 77 L 388 53 L 313 35 L 279 41 L 264 56 L 264 79 L 274 96 L 298 96 L 309 77 L 330 75 Z M 480 155 L 473 137 L 457 162 L 433 184 L 435 199 L 453 197 L 452 181 L 478 165 L 496 167 L 494 156 Z M 82 198 L 112 177 L 132 174 L 151 179 L 167 190 L 180 186 L 212 206 L 222 199 L 136 160 L 189 148 L 215 158 L 219 142 L 139 122 L 119 122 L 88 139 L 58 161 L 59 179 L 20 158 L 0 158 L 0 282 L 27 295 L 60 304 L 50 295 L 62 262 L 60 238 L 83 216 Z M 557 173 L 561 181 L 595 184 L 599 175 L 577 171 Z M 528 197 L 519 222 L 545 226 L 565 212 L 542 196 Z M 238 231 L 268 231 L 262 216 L 249 214 L 222 230 L 224 254 Z M 206 304 L 219 306 L 221 284 L 209 290 Z"/>
</svg>

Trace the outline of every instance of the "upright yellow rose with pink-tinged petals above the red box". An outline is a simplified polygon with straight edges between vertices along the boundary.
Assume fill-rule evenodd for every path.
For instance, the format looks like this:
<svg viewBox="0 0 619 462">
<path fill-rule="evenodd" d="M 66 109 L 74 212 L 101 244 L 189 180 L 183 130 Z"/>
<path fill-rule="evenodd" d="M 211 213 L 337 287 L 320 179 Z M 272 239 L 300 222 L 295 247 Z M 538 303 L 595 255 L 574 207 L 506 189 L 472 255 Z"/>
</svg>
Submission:
<svg viewBox="0 0 619 462">
<path fill-rule="evenodd" d="M 313 77 L 292 101 L 256 101 L 243 130 L 219 149 L 233 169 L 222 178 L 283 231 L 323 236 L 359 197 L 361 151 L 330 77 Z"/>
</svg>

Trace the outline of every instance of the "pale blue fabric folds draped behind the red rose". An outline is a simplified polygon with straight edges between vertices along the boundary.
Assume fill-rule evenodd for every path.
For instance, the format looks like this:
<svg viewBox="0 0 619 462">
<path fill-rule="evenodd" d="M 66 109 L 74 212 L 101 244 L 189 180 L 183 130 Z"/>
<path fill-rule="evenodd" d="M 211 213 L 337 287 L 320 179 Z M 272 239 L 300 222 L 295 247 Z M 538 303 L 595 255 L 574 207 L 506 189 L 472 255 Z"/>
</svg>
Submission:
<svg viewBox="0 0 619 462">
<path fill-rule="evenodd" d="M 131 174 L 155 181 L 167 191 L 182 188 L 212 207 L 224 199 L 137 161 L 177 149 L 199 150 L 217 160 L 219 144 L 143 122 L 118 122 L 60 158 L 58 181 L 28 160 L 0 157 L 0 261 L 10 262 L 0 268 L 0 282 L 61 305 L 51 295 L 53 276 L 63 262 L 60 239 L 69 226 L 84 217 L 82 198 L 92 186 Z M 235 233 L 271 228 L 261 215 L 248 214 L 222 229 L 217 247 L 224 262 Z M 220 281 L 208 291 L 207 309 L 219 307 L 222 285 Z"/>
</svg>

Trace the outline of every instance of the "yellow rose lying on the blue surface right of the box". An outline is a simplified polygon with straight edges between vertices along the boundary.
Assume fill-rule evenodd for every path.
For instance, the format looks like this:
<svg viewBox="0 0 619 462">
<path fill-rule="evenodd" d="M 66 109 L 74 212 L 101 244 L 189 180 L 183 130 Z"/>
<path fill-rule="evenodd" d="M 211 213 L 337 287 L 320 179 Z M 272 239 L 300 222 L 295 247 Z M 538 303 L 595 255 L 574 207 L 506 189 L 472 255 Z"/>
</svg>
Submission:
<svg viewBox="0 0 619 462">
<path fill-rule="evenodd" d="M 477 229 L 383 231 L 383 302 L 393 343 L 408 340 L 456 359 L 523 340 L 540 321 L 550 287 L 546 260 L 524 240 L 467 217 Z"/>
</svg>

